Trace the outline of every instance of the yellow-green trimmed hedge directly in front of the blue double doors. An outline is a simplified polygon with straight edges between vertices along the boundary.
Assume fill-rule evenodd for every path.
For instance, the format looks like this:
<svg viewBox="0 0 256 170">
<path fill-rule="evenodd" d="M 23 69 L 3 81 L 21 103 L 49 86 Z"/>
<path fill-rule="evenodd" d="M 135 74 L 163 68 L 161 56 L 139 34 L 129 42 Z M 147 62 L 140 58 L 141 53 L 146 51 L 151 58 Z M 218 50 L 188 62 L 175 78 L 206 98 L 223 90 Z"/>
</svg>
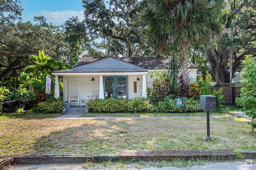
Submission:
<svg viewBox="0 0 256 170">
<path fill-rule="evenodd" d="M 89 100 L 87 106 L 90 112 L 96 113 L 141 113 L 150 112 L 152 109 L 152 105 L 145 98 L 95 99 Z"/>
</svg>

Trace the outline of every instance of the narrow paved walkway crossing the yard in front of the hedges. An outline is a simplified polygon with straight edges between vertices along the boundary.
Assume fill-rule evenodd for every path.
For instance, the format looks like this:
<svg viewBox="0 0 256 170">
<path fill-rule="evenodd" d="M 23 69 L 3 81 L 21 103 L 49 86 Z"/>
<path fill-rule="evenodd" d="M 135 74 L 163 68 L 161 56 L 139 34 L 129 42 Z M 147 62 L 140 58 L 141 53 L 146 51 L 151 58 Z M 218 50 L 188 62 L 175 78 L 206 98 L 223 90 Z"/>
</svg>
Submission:
<svg viewBox="0 0 256 170">
<path fill-rule="evenodd" d="M 206 116 L 89 116 L 79 117 L 82 114 L 63 114 L 56 119 L 155 119 L 155 118 L 206 118 Z M 237 116 L 210 116 L 210 118 L 238 118 Z"/>
</svg>

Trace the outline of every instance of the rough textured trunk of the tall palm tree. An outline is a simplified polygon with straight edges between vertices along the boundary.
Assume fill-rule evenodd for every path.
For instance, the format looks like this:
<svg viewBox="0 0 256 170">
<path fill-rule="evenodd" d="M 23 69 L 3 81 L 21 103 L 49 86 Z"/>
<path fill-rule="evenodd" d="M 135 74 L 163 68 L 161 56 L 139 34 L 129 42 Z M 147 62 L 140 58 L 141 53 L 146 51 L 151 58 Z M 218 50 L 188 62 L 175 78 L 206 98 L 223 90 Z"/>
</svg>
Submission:
<svg viewBox="0 0 256 170">
<path fill-rule="evenodd" d="M 188 43 L 180 44 L 180 59 L 182 63 L 180 69 L 184 78 L 184 83 L 189 85 L 189 54 L 188 54 Z"/>
</svg>

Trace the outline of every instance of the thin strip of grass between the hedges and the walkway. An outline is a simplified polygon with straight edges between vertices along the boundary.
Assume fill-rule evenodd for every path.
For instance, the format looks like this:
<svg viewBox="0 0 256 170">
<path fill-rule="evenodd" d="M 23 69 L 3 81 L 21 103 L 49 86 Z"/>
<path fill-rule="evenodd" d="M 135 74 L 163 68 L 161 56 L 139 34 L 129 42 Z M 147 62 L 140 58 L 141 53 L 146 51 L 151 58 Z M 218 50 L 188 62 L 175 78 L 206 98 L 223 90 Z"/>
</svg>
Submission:
<svg viewBox="0 0 256 170">
<path fill-rule="evenodd" d="M 232 112 L 239 110 L 236 106 L 225 106 L 216 111 L 210 112 L 211 116 L 232 116 Z M 152 112 L 152 113 L 84 113 L 80 117 L 88 116 L 206 116 L 206 112 L 195 113 L 166 113 L 166 112 Z"/>
</svg>

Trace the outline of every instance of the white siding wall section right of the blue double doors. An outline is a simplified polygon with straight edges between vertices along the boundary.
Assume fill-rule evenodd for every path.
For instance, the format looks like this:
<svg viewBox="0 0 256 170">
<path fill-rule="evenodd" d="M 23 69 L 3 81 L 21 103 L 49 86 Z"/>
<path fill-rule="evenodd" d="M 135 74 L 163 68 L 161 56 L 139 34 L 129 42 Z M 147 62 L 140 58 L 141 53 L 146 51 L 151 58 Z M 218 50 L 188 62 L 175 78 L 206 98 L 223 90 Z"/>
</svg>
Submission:
<svg viewBox="0 0 256 170">
<path fill-rule="evenodd" d="M 139 81 L 137 81 L 137 77 Z M 137 81 L 137 93 L 134 92 L 134 81 Z M 128 76 L 128 92 L 129 92 L 129 99 L 137 98 L 142 96 L 142 75 L 132 75 Z"/>
</svg>

